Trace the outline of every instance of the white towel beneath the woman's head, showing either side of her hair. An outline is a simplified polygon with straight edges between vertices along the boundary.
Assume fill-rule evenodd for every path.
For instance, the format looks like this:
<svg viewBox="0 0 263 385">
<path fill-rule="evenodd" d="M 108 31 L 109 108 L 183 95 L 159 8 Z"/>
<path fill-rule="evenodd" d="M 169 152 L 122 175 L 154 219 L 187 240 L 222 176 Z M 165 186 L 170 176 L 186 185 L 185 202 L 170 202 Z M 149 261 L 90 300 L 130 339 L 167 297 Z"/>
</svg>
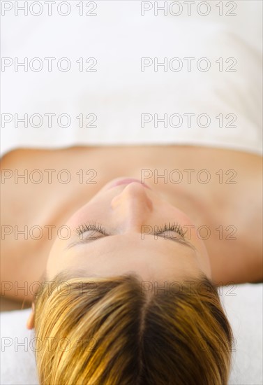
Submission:
<svg viewBox="0 0 263 385">
<path fill-rule="evenodd" d="M 228 385 L 262 385 L 262 290 L 262 283 L 246 283 L 220 291 L 236 341 Z M 34 335 L 25 327 L 29 311 L 1 313 L 1 384 L 38 384 L 31 349 Z"/>
</svg>

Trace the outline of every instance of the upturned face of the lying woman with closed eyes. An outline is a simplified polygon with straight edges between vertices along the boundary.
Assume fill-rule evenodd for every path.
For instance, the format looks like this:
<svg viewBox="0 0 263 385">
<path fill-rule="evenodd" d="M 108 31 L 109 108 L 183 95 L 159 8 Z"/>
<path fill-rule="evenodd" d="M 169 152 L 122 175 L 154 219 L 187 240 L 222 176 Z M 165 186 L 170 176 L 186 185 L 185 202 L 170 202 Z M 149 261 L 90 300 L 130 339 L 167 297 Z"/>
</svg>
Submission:
<svg viewBox="0 0 263 385">
<path fill-rule="evenodd" d="M 105 234 L 94 230 L 94 223 Z M 183 238 L 178 226 L 160 229 L 169 223 L 177 223 L 183 230 L 191 226 L 191 232 Z M 81 269 L 87 276 L 135 272 L 143 281 L 160 287 L 165 281 L 200 272 L 211 277 L 209 257 L 195 224 L 140 181 L 110 181 L 65 225 L 70 237 L 54 241 L 47 260 L 48 279 L 64 269 Z"/>
</svg>

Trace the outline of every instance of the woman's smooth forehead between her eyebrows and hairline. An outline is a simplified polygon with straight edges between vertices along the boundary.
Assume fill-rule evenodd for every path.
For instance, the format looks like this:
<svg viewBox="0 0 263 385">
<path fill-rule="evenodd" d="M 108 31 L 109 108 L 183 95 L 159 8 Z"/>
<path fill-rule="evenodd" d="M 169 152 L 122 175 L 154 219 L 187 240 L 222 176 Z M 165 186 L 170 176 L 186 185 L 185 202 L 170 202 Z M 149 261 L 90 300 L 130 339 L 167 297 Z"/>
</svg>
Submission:
<svg viewBox="0 0 263 385">
<path fill-rule="evenodd" d="M 65 245 L 66 246 L 66 245 Z M 55 269 L 80 268 L 87 273 L 110 276 L 136 272 L 142 279 L 181 278 L 200 271 L 191 248 L 168 239 L 138 234 L 103 237 L 77 244 L 58 256 Z"/>
</svg>

